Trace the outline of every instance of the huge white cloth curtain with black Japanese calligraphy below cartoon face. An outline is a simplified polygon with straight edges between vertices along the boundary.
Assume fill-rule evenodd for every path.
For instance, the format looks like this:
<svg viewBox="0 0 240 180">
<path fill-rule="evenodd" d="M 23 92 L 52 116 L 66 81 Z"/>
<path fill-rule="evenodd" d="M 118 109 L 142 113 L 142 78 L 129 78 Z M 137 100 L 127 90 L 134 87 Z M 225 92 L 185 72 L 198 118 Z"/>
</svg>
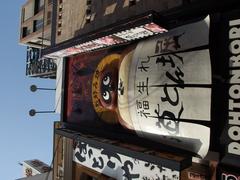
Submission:
<svg viewBox="0 0 240 180">
<path fill-rule="evenodd" d="M 140 42 L 127 81 L 129 118 L 143 137 L 204 157 L 209 148 L 212 72 L 209 17 Z M 125 87 L 126 88 L 126 87 Z"/>
</svg>

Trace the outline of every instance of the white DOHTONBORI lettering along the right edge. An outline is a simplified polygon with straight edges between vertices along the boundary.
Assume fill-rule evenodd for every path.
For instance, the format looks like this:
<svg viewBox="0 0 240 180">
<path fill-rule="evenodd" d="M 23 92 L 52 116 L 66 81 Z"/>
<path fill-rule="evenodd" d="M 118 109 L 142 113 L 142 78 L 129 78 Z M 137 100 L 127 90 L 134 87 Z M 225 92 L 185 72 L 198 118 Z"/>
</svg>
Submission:
<svg viewBox="0 0 240 180">
<path fill-rule="evenodd" d="M 240 155 L 240 19 L 229 21 L 229 129 L 228 153 Z M 227 179 L 227 178 L 226 178 Z"/>
</svg>

